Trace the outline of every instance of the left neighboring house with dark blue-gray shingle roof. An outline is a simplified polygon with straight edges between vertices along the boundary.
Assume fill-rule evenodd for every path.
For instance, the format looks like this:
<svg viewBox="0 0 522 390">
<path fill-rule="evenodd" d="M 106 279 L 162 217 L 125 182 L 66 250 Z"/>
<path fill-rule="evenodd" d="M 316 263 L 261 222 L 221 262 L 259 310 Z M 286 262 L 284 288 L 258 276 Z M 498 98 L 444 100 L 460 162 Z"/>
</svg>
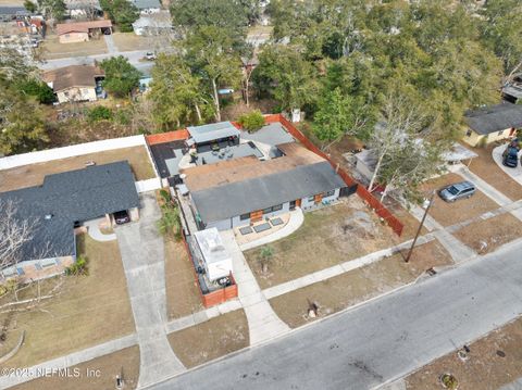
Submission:
<svg viewBox="0 0 522 390">
<path fill-rule="evenodd" d="M 126 211 L 139 217 L 139 198 L 134 174 L 126 161 L 87 166 L 48 175 L 41 186 L 0 193 L 0 202 L 15 205 L 15 218 L 33 224 L 30 240 L 20 252 L 20 261 L 0 269 L 0 277 L 44 278 L 60 274 L 76 260 L 75 228 L 83 223 Z"/>
</svg>

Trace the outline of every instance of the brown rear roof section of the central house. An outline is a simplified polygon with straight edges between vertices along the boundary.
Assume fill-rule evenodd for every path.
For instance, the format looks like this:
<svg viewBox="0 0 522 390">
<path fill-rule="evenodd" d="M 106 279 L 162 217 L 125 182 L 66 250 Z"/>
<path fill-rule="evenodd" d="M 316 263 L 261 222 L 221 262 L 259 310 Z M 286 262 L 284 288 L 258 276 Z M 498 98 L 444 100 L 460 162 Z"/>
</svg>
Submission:
<svg viewBox="0 0 522 390">
<path fill-rule="evenodd" d="M 297 142 L 278 144 L 277 148 L 285 154 L 284 156 L 260 161 L 250 155 L 215 164 L 195 166 L 181 172 L 187 175 L 185 183 L 188 189 L 194 192 L 325 161 Z"/>
</svg>

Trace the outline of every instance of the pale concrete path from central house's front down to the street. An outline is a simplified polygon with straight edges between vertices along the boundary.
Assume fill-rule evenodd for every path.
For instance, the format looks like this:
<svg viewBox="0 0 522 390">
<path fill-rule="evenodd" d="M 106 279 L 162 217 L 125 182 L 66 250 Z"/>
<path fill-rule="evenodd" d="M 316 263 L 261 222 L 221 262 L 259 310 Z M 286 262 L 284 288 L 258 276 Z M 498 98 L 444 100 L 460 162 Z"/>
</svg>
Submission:
<svg viewBox="0 0 522 390">
<path fill-rule="evenodd" d="M 233 230 L 220 231 L 232 256 L 234 278 L 239 290 L 239 302 L 245 310 L 250 334 L 250 345 L 256 345 L 287 334 L 289 327 L 277 317 L 237 246 Z"/>
</svg>

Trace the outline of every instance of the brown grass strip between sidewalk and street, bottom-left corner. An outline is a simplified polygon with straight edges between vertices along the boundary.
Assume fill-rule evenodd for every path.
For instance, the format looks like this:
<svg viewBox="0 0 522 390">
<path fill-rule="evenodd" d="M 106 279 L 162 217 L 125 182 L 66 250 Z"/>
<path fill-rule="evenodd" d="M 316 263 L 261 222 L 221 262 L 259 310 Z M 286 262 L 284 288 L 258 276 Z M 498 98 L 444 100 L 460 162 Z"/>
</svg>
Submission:
<svg viewBox="0 0 522 390">
<path fill-rule="evenodd" d="M 130 347 L 70 367 L 74 378 L 50 376 L 11 388 L 12 390 L 91 390 L 114 389 L 116 375 L 122 376 L 125 389 L 136 389 L 139 376 L 139 348 Z M 87 373 L 97 375 L 88 376 Z"/>
</svg>

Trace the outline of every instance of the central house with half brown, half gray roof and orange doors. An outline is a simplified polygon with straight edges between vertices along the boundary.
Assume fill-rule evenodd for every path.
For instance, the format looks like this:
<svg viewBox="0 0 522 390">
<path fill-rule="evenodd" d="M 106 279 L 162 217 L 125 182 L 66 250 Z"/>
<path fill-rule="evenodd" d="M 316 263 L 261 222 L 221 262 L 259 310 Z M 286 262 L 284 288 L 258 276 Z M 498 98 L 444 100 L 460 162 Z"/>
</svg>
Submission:
<svg viewBox="0 0 522 390">
<path fill-rule="evenodd" d="M 343 178 L 330 162 L 298 142 L 276 147 L 279 156 L 248 155 L 182 171 L 200 229 L 249 225 L 296 207 L 313 210 L 335 201 Z"/>
</svg>

